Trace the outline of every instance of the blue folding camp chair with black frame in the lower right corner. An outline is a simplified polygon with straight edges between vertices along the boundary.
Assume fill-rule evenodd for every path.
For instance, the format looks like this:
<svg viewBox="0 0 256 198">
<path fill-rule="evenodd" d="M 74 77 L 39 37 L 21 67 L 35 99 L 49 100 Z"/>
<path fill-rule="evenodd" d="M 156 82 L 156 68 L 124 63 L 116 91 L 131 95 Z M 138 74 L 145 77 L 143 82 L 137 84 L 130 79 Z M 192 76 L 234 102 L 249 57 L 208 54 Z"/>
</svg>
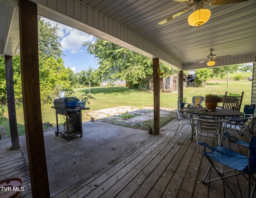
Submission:
<svg viewBox="0 0 256 198">
<path fill-rule="evenodd" d="M 236 143 L 239 144 L 239 141 L 236 140 Z M 222 180 L 224 182 L 224 184 L 234 194 L 234 197 L 237 197 L 237 195 L 230 188 L 230 186 L 228 185 L 228 182 L 225 179 L 230 178 L 232 176 L 247 174 L 248 177 L 245 177 L 248 180 L 248 196 L 247 197 L 248 198 L 254 197 L 254 192 L 256 189 L 256 179 L 253 174 L 256 173 L 256 136 L 252 136 L 250 139 L 250 143 L 247 144 L 247 146 L 249 147 L 248 156 L 239 154 L 237 152 L 234 152 L 228 148 L 225 148 L 225 147 L 219 146 L 219 145 L 216 146 L 215 148 L 212 148 L 205 142 L 199 142 L 199 144 L 204 146 L 203 154 L 204 154 L 204 156 L 206 156 L 207 160 L 210 162 L 210 167 L 208 168 L 206 175 L 204 176 L 204 179 L 202 180 L 203 184 L 206 184 L 208 182 L 213 182 L 216 180 Z M 246 145 L 244 145 L 244 146 L 246 146 Z M 211 151 L 206 152 L 206 148 L 210 149 Z M 225 172 L 219 172 L 218 168 L 215 167 L 214 161 L 219 162 L 220 164 L 223 164 L 225 166 L 228 166 L 231 169 L 228 171 L 225 171 Z M 208 173 L 210 172 L 211 167 L 214 168 L 214 170 L 217 172 L 217 174 L 220 177 L 213 179 L 213 180 L 206 181 L 206 177 L 207 177 Z M 234 171 L 234 174 L 227 174 L 232 171 Z M 252 186 L 252 188 L 251 188 L 251 186 Z"/>
</svg>

